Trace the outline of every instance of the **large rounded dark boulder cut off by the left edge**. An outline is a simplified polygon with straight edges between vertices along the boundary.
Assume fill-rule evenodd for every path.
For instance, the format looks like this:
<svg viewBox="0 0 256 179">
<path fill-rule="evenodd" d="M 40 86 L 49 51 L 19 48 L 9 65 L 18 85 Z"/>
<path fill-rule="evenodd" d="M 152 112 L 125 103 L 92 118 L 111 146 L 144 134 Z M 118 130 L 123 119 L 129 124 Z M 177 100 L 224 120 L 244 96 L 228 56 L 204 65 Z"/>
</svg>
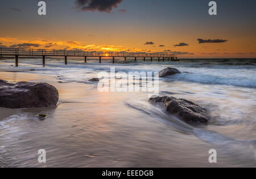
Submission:
<svg viewBox="0 0 256 179">
<path fill-rule="evenodd" d="M 11 109 L 52 107 L 59 101 L 57 89 L 46 83 L 0 83 L 0 107 Z"/>
</svg>

